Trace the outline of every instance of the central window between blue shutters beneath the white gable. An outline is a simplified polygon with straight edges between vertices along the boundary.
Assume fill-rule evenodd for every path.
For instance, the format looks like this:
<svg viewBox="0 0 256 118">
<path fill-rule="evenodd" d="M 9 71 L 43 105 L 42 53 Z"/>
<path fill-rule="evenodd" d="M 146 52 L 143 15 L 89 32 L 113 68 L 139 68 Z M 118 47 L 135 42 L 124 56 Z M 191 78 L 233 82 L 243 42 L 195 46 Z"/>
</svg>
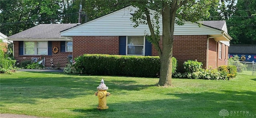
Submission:
<svg viewBox="0 0 256 118">
<path fill-rule="evenodd" d="M 144 36 L 128 36 L 127 37 L 127 55 L 144 55 Z"/>
</svg>

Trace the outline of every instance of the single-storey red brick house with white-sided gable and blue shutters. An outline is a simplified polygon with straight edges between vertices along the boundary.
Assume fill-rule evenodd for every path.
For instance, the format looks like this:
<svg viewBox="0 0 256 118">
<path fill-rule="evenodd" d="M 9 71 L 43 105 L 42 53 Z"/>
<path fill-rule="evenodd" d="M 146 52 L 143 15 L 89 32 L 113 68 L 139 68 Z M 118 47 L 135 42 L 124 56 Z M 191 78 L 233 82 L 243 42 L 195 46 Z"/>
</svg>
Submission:
<svg viewBox="0 0 256 118">
<path fill-rule="evenodd" d="M 41 24 L 8 39 L 14 41 L 15 59 L 23 61 L 44 54 L 46 67 L 50 67 L 50 59 L 54 60 L 55 65 L 59 62 L 60 67 L 65 67 L 67 57 L 74 59 L 82 54 L 158 55 L 154 46 L 146 40 L 145 34 L 150 34 L 148 26 L 133 27 L 130 18 L 134 10 L 136 8 L 129 6 L 81 25 Z M 160 35 L 161 22 L 160 19 Z M 200 27 L 191 22 L 183 26 L 175 25 L 173 56 L 178 61 L 179 69 L 187 60 L 196 59 L 203 63 L 204 68 L 216 68 L 224 65 L 228 59 L 229 41 L 232 38 L 228 35 L 226 22 L 201 23 Z M 26 43 L 35 46 L 29 47 Z M 39 53 L 38 43 L 47 44 L 43 49 L 46 52 Z M 34 52 L 26 51 L 27 47 L 34 49 Z M 57 53 L 53 53 L 54 47 L 58 47 Z"/>
</svg>

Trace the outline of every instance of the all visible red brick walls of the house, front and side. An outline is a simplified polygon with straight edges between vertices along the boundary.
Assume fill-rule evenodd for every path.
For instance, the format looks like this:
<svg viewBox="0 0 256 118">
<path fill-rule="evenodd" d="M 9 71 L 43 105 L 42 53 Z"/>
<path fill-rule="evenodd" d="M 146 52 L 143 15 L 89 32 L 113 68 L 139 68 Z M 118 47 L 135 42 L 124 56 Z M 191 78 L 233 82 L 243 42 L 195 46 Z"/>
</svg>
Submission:
<svg viewBox="0 0 256 118">
<path fill-rule="evenodd" d="M 218 59 L 218 44 L 214 39 L 209 39 L 209 57 L 208 66 L 216 68 L 217 65 L 224 65 L 225 59 L 228 59 L 228 46 L 222 44 L 222 58 Z M 58 53 L 46 55 L 45 66 L 50 67 L 50 59 L 53 59 L 55 67 L 60 63 L 60 67 L 65 67 L 67 56 L 73 55 L 73 59 L 83 54 L 119 54 L 119 36 L 75 36 L 73 37 L 73 53 L 60 52 L 60 41 L 52 41 L 52 47 L 58 47 Z M 31 57 L 39 57 L 39 55 L 19 55 L 19 43 L 14 41 L 14 57 L 19 62 L 31 60 Z M 162 48 L 162 39 L 160 40 Z M 178 70 L 183 69 L 183 63 L 187 60 L 197 60 L 203 63 L 206 68 L 206 50 L 207 35 L 176 35 L 174 36 L 173 57 L 178 61 Z M 152 45 L 152 55 L 158 55 L 154 45 Z M 216 57 L 217 56 L 217 57 Z"/>
</svg>

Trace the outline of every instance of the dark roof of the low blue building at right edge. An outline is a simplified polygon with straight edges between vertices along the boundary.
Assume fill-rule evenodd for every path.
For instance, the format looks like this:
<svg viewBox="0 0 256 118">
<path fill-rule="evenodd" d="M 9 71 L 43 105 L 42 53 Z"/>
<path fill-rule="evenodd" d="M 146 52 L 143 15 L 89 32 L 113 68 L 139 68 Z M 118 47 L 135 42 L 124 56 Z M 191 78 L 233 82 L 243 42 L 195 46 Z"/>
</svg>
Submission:
<svg viewBox="0 0 256 118">
<path fill-rule="evenodd" d="M 256 54 L 256 45 L 248 44 L 230 44 L 228 53 L 232 54 Z"/>
</svg>

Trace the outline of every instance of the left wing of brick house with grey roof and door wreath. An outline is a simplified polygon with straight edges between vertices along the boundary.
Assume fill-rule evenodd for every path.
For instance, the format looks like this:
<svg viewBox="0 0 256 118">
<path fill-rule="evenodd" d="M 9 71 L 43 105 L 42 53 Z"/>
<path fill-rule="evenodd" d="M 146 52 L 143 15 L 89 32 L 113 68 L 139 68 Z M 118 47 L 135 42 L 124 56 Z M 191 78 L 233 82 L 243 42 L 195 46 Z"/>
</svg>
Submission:
<svg viewBox="0 0 256 118">
<path fill-rule="evenodd" d="M 76 24 L 40 24 L 28 30 L 11 35 L 7 39 L 14 43 L 14 58 L 19 63 L 32 57 L 45 57 L 45 66 L 65 67 L 67 57 L 72 57 L 72 39 L 61 37 L 60 31 Z"/>
</svg>

